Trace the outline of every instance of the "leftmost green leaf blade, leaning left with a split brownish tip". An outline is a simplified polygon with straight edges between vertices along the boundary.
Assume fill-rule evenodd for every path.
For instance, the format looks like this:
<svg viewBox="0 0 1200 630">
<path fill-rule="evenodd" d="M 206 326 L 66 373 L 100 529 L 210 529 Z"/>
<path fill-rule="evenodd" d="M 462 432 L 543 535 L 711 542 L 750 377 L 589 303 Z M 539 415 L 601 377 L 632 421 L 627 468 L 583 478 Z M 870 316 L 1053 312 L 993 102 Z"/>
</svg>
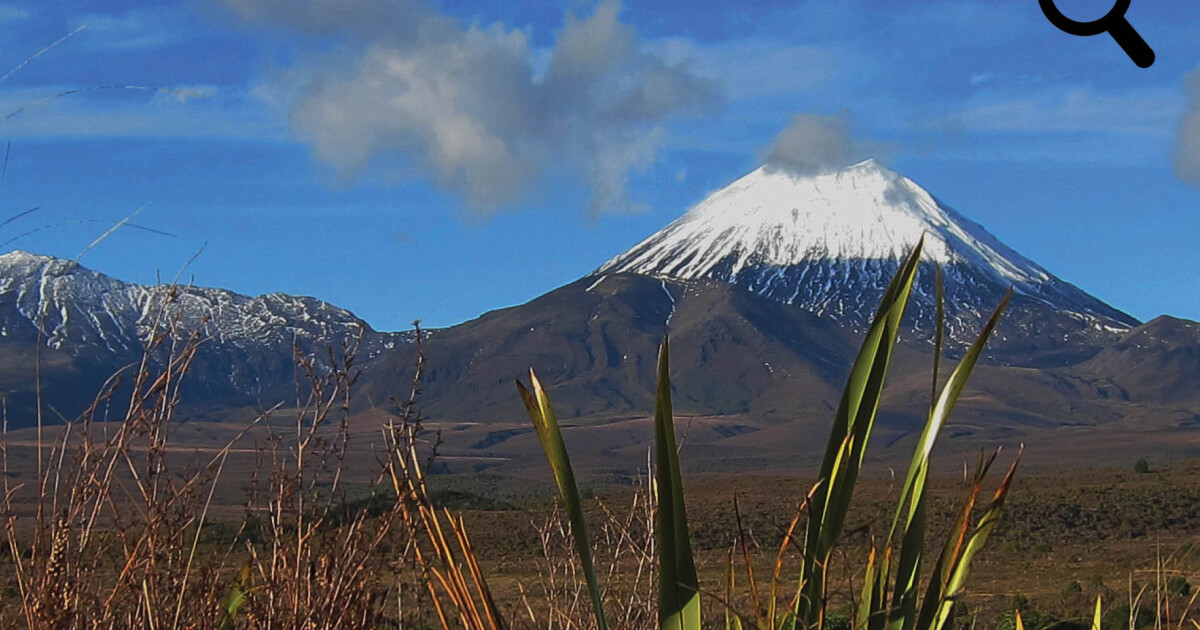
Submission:
<svg viewBox="0 0 1200 630">
<path fill-rule="evenodd" d="M 592 539 L 588 535 L 588 522 L 583 517 L 583 500 L 580 498 L 580 488 L 575 482 L 571 458 L 566 454 L 566 444 L 563 443 L 563 432 L 559 430 L 554 409 L 550 404 L 550 396 L 546 395 L 546 389 L 538 380 L 538 374 L 533 370 L 529 371 L 529 380 L 533 385 L 533 394 L 520 380 L 517 382 L 517 391 L 529 413 L 529 419 L 533 420 L 538 440 L 541 443 L 550 468 L 554 473 L 554 484 L 558 485 L 558 492 L 563 497 L 563 504 L 571 523 L 571 535 L 575 538 L 575 551 L 580 554 L 583 578 L 588 584 L 588 595 L 595 612 L 596 628 L 607 630 L 608 622 L 605 619 L 600 583 L 596 580 L 595 563 L 592 559 Z"/>
</svg>

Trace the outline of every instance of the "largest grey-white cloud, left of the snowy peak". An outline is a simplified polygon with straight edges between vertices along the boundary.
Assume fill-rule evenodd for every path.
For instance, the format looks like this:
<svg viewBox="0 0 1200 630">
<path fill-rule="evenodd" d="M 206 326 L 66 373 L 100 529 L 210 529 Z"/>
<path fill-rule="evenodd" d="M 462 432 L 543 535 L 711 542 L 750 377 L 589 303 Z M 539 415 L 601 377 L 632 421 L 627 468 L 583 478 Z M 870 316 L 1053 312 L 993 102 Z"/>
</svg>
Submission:
<svg viewBox="0 0 1200 630">
<path fill-rule="evenodd" d="M 635 209 L 628 179 L 654 162 L 661 125 L 718 97 L 714 82 L 648 50 L 614 0 L 569 14 L 548 53 L 522 30 L 464 25 L 421 0 L 224 1 L 342 44 L 263 90 L 288 103 L 318 158 L 348 178 L 388 156 L 415 161 L 479 214 L 523 199 L 547 166 L 584 178 L 593 212 Z"/>
</svg>

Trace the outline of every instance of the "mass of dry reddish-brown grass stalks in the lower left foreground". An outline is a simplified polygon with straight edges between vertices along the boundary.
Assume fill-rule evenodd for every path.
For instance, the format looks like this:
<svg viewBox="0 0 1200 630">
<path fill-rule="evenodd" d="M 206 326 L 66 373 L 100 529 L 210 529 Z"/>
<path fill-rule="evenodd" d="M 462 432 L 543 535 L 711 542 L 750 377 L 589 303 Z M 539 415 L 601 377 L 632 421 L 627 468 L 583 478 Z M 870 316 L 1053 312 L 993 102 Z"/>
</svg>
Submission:
<svg viewBox="0 0 1200 630">
<path fill-rule="evenodd" d="M 364 506 L 344 487 L 359 338 L 320 361 L 298 349 L 292 412 L 264 410 L 206 460 L 172 450 L 182 383 L 205 342 L 202 330 L 181 329 L 180 290 L 157 294 L 143 360 L 114 376 L 56 439 L 35 446 L 36 474 L 14 474 L 4 440 L 8 558 L 0 563 L 11 568 L 12 593 L 0 596 L 0 625 L 505 628 L 462 518 L 436 509 L 425 488 L 437 439 L 427 440 L 415 410 L 424 354 L 408 398 L 380 427 Z M 114 408 L 124 409 L 120 420 L 101 422 Z M 280 413 L 294 414 L 290 428 L 280 431 Z M 263 436 L 254 452 L 262 468 L 245 518 L 214 539 L 217 486 L 240 482 L 222 474 L 234 444 L 252 434 Z"/>
</svg>

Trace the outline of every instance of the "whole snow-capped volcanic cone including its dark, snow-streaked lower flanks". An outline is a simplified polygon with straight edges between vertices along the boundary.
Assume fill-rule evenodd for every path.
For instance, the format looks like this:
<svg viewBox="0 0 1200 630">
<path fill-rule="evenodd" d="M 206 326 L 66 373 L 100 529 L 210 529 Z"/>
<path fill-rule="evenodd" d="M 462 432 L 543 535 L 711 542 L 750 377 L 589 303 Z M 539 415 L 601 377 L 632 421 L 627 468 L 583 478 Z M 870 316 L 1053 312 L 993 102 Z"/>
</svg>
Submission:
<svg viewBox="0 0 1200 630">
<path fill-rule="evenodd" d="M 1138 324 L 874 160 L 814 176 L 762 167 L 595 275 L 721 280 L 860 328 L 900 258 L 923 234 L 925 262 L 946 275 L 953 338 L 966 341 L 1009 287 L 1018 295 L 1014 310 L 1037 312 L 1025 313 L 1037 314 L 1026 326 L 1051 317 L 1046 311 L 1078 324 L 1057 322 L 1055 329 L 1115 334 Z M 932 287 L 932 274 L 923 274 L 910 307 L 919 330 L 931 329 Z"/>
</svg>

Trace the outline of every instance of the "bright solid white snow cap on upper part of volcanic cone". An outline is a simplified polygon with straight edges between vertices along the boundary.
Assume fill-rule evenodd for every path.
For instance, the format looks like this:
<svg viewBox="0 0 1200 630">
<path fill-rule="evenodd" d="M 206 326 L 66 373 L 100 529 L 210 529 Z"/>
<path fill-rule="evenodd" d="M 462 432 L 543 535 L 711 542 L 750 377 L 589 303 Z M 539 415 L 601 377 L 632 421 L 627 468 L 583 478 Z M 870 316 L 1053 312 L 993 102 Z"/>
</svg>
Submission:
<svg viewBox="0 0 1200 630">
<path fill-rule="evenodd" d="M 791 266 L 814 260 L 900 259 L 925 235 L 925 259 L 970 263 L 1010 283 L 1049 274 L 979 226 L 875 160 L 798 176 L 761 167 L 713 193 L 598 272 L 679 278 L 732 264 Z"/>
</svg>

